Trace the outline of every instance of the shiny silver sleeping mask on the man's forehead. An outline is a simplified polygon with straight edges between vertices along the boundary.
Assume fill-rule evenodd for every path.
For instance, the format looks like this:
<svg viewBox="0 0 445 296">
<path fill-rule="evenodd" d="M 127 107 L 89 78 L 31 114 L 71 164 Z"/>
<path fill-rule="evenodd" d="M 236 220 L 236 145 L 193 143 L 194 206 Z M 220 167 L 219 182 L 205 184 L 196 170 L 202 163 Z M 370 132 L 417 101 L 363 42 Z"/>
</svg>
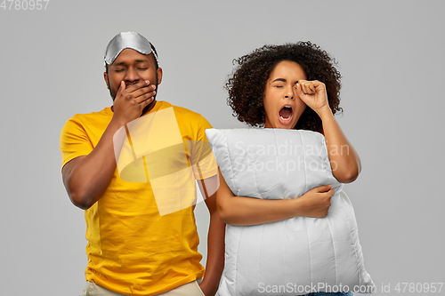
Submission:
<svg viewBox="0 0 445 296">
<path fill-rule="evenodd" d="M 103 57 L 106 63 L 105 66 L 107 66 L 107 64 L 111 65 L 119 53 L 125 50 L 125 48 L 131 48 L 142 54 L 153 53 L 156 62 L 159 64 L 158 55 L 153 51 L 150 42 L 144 36 L 136 32 L 122 32 L 114 36 L 109 42 L 105 50 L 105 56 Z"/>
</svg>

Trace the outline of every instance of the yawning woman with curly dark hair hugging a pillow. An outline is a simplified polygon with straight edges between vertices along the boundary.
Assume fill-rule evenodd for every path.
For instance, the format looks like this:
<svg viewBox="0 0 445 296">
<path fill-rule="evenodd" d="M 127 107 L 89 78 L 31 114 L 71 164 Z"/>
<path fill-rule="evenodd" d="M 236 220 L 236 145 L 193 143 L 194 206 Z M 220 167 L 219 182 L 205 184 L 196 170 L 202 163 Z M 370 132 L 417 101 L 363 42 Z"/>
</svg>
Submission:
<svg viewBox="0 0 445 296">
<path fill-rule="evenodd" d="M 344 136 L 334 114 L 339 108 L 340 73 L 335 60 L 310 42 L 265 45 L 236 60 L 229 78 L 228 103 L 239 121 L 275 129 L 322 132 L 336 180 L 350 183 L 360 173 L 360 157 Z M 339 153 L 347 148 L 348 153 Z M 220 172 L 217 205 L 223 222 L 250 226 L 296 216 L 322 218 L 328 214 L 331 185 L 295 199 L 264 200 L 235 196 Z M 351 292 L 315 292 L 308 295 L 352 295 Z"/>
</svg>

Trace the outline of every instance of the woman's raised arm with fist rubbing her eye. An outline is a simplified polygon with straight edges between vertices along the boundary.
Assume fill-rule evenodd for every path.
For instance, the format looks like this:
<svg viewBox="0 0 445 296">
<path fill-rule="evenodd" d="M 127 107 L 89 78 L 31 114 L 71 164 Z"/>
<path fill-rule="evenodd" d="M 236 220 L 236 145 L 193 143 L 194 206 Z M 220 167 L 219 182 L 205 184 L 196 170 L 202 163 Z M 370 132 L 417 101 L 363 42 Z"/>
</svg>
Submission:
<svg viewBox="0 0 445 296">
<path fill-rule="evenodd" d="M 320 81 L 300 80 L 296 84 L 298 97 L 321 118 L 332 173 L 336 180 L 351 183 L 361 171 L 360 157 L 346 139 L 328 103 L 326 85 Z"/>
</svg>

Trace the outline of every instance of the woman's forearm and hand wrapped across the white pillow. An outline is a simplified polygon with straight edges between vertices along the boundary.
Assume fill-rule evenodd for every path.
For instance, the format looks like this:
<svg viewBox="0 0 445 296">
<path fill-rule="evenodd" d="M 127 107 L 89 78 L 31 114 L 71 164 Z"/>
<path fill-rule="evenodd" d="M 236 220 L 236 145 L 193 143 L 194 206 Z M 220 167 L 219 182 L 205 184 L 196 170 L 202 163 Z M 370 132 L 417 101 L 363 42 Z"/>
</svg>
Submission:
<svg viewBox="0 0 445 296">
<path fill-rule="evenodd" d="M 216 204 L 224 223 L 247 226 L 286 220 L 295 216 L 323 218 L 328 214 L 334 195 L 331 185 L 313 188 L 295 199 L 266 200 L 235 196 L 219 172 L 220 187 Z"/>
</svg>

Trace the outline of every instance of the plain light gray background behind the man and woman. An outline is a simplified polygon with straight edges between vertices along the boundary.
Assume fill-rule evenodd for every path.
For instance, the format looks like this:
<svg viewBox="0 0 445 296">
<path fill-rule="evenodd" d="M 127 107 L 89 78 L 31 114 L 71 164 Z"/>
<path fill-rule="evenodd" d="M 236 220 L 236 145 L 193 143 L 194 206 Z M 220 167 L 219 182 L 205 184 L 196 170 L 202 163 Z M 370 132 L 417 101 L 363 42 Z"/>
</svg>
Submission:
<svg viewBox="0 0 445 296">
<path fill-rule="evenodd" d="M 441 1 L 56 0 L 45 11 L 0 9 L 0 294 L 82 291 L 84 212 L 61 182 L 59 135 L 70 116 L 111 104 L 103 52 L 134 30 L 158 49 L 158 100 L 216 128 L 244 126 L 225 102 L 232 59 L 299 40 L 330 52 L 343 75 L 338 121 L 361 156 L 360 178 L 345 190 L 375 295 L 439 295 L 395 288 L 445 282 L 444 9 Z M 206 256 L 203 204 L 197 217 Z"/>
</svg>

